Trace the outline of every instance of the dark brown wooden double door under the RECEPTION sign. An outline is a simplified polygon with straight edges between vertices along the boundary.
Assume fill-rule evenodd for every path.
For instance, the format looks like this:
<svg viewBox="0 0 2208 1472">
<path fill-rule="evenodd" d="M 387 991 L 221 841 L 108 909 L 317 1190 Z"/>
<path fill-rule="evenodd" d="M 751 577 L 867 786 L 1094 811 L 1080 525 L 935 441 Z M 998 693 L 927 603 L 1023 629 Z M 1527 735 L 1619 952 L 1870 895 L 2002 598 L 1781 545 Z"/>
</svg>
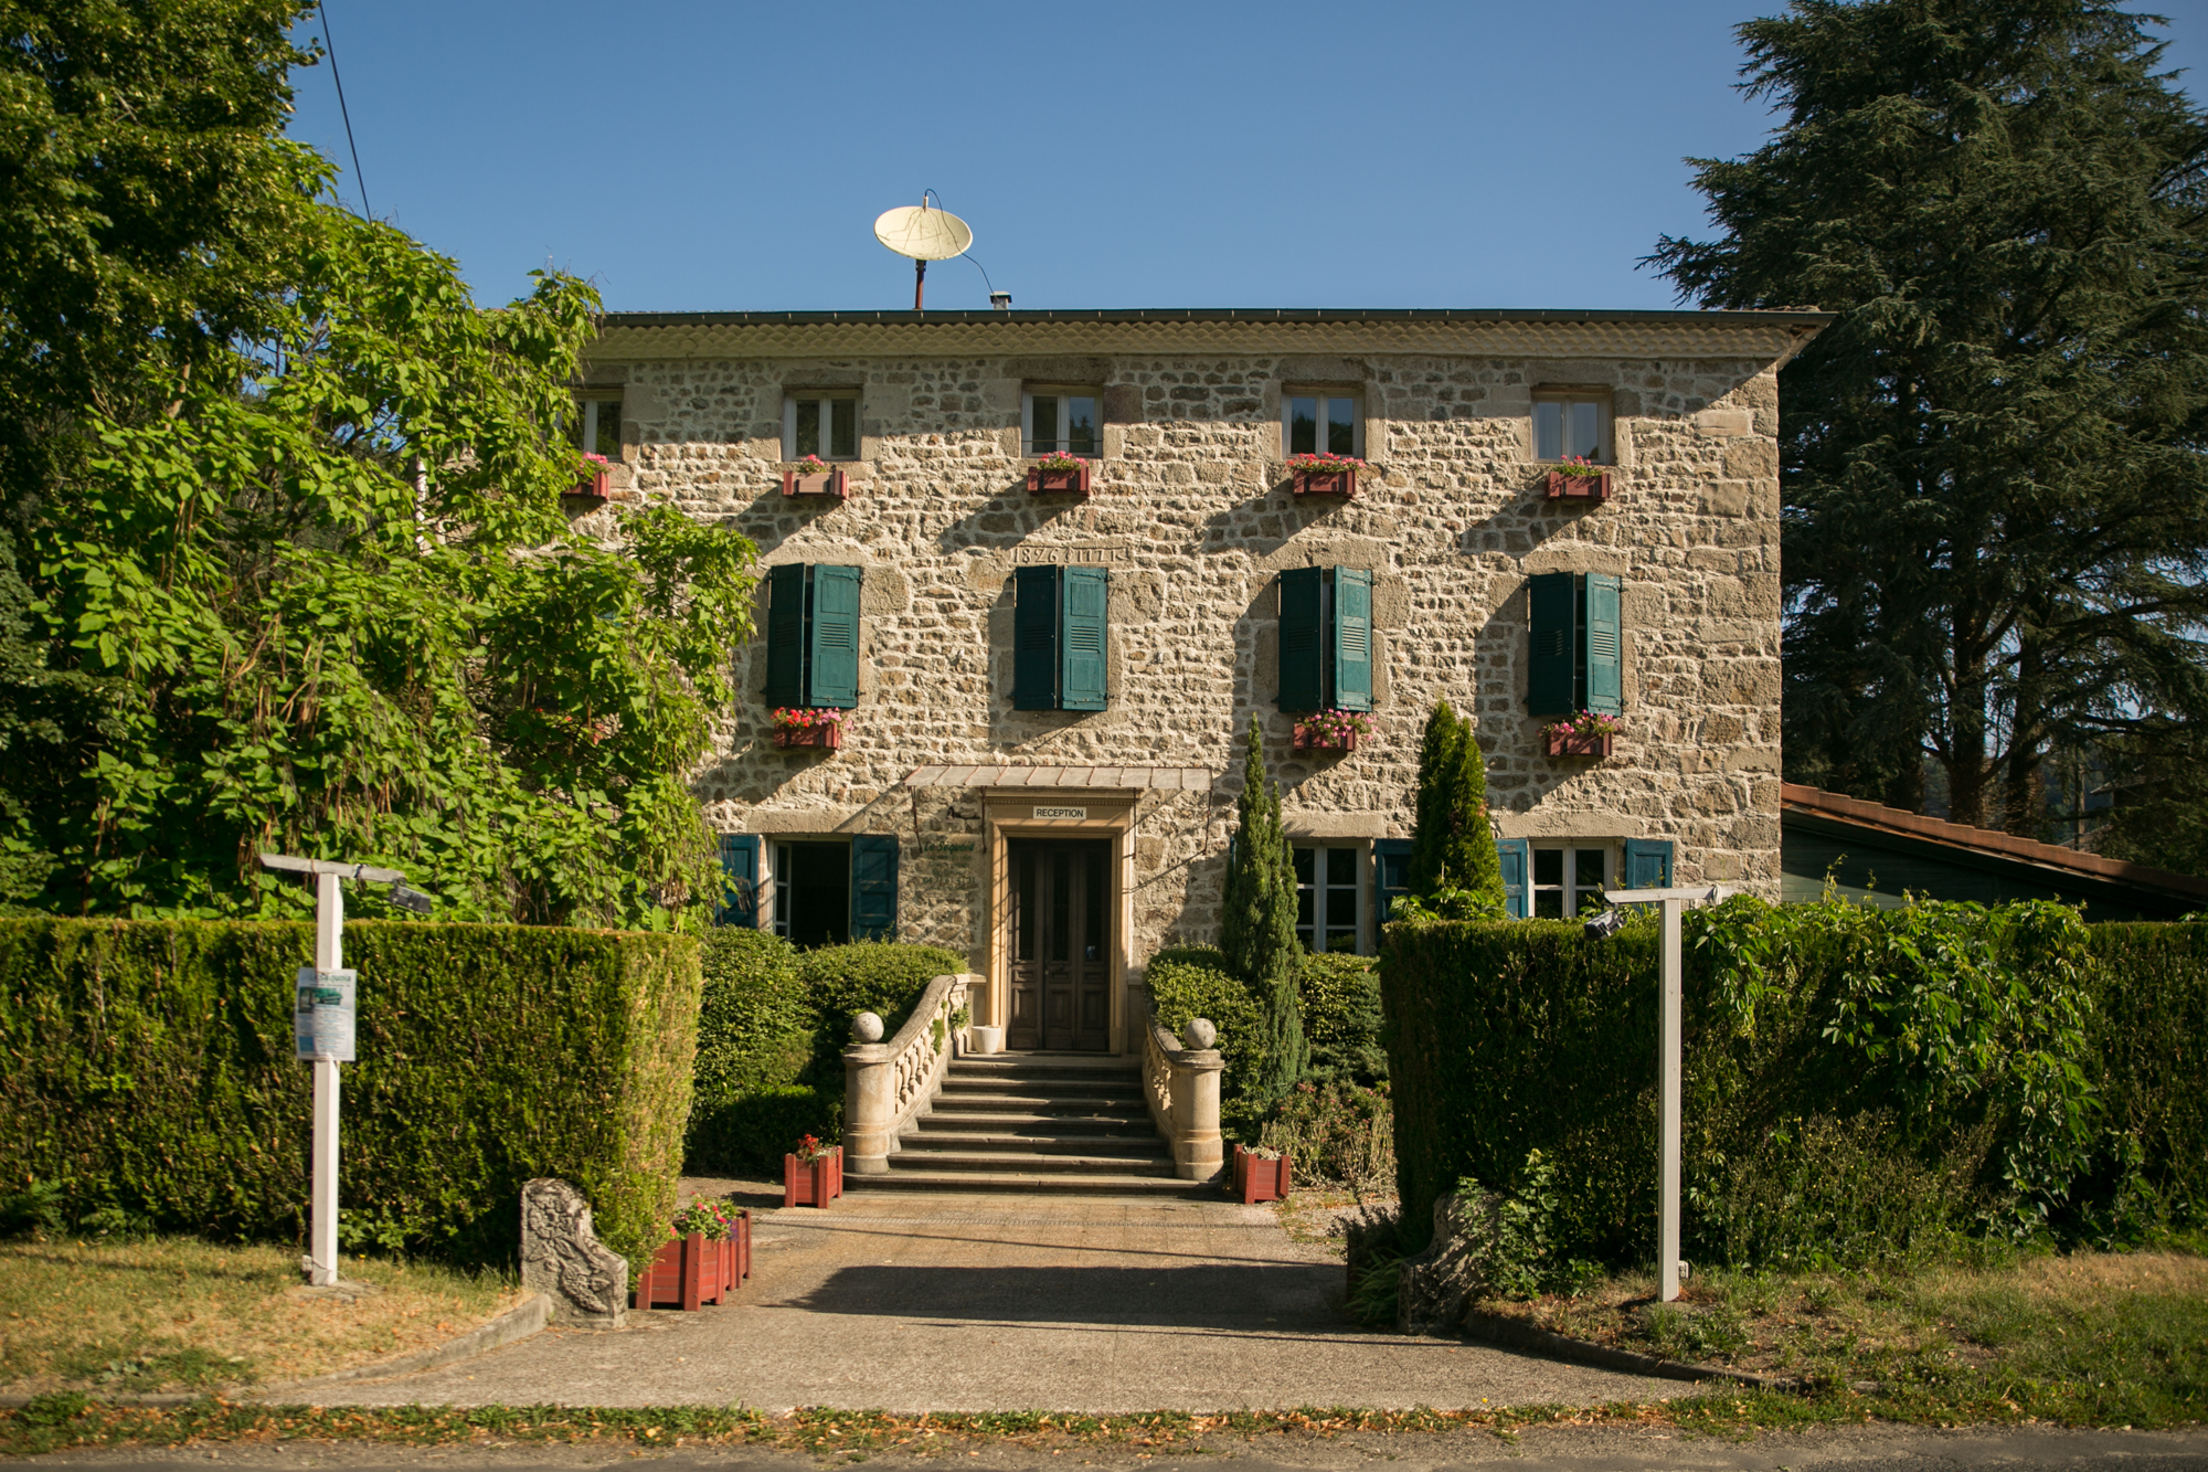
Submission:
<svg viewBox="0 0 2208 1472">
<path fill-rule="evenodd" d="M 1011 840 L 1007 1048 L 1111 1050 L 1111 842 Z"/>
</svg>

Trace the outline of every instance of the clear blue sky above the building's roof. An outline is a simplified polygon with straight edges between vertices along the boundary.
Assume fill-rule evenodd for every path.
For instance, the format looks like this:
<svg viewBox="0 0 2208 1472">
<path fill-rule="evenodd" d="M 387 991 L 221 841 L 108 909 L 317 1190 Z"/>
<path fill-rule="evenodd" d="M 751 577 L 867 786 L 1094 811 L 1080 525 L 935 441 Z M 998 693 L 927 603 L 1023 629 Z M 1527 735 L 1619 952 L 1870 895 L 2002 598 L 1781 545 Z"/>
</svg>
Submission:
<svg viewBox="0 0 2208 1472">
<path fill-rule="evenodd" d="M 486 303 L 554 265 L 662 312 L 910 307 L 872 221 L 923 188 L 1016 307 L 1667 307 L 1636 261 L 1707 232 L 1682 157 L 1762 141 L 1731 27 L 1780 9 L 327 4 L 380 219 Z M 2153 9 L 2208 62 L 2208 0 Z M 294 86 L 358 203 L 329 64 Z"/>
</svg>

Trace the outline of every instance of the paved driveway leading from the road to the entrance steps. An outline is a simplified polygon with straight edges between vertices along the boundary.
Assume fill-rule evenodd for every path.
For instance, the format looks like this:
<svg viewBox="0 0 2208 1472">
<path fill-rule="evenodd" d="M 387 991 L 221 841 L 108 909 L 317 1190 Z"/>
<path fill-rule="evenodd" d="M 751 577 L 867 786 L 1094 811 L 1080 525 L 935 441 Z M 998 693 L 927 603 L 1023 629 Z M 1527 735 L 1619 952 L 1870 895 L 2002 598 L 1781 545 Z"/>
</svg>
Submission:
<svg viewBox="0 0 2208 1472">
<path fill-rule="evenodd" d="M 722 1308 L 545 1331 L 318 1403 L 733 1403 L 762 1410 L 1241 1410 L 1689 1395 L 1691 1386 L 1362 1333 L 1342 1266 L 1270 1207 L 859 1196 L 755 1213 Z M 272 1397 L 285 1399 L 285 1397 Z"/>
</svg>

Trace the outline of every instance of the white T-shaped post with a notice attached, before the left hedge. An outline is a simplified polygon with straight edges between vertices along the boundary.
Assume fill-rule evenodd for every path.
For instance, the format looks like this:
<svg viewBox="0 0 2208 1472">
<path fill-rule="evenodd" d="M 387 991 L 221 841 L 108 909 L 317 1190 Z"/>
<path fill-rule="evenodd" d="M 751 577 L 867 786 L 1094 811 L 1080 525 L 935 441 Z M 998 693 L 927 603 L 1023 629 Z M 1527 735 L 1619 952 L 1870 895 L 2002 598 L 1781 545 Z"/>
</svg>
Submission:
<svg viewBox="0 0 2208 1472">
<path fill-rule="evenodd" d="M 367 864 L 333 864 L 302 860 L 289 853 L 263 853 L 265 869 L 311 873 L 314 966 L 298 968 L 291 995 L 291 1052 L 314 1063 L 314 1169 L 307 1216 L 307 1282 L 318 1289 L 338 1284 L 338 1063 L 353 1061 L 353 986 L 358 975 L 344 970 L 344 891 L 342 880 L 391 884 L 393 900 L 408 911 L 428 911 L 431 897 L 406 889 L 397 869 Z"/>
</svg>

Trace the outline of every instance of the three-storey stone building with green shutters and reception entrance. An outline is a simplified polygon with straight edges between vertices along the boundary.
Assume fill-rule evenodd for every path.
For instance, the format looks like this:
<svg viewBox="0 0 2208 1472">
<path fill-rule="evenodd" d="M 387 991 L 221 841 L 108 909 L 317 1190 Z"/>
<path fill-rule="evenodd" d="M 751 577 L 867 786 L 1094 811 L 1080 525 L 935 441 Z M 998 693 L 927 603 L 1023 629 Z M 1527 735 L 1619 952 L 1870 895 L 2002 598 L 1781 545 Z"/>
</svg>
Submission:
<svg viewBox="0 0 2208 1472">
<path fill-rule="evenodd" d="M 1217 935 L 1252 716 L 1312 946 L 1376 946 L 1444 696 L 1515 913 L 1777 897 L 1777 369 L 1824 320 L 616 312 L 583 398 L 616 502 L 760 546 L 696 774 L 733 917 L 949 946 L 1011 1045 L 1128 1052 L 1146 957 Z M 1071 491 L 1029 488 L 1051 451 Z M 1362 462 L 1354 493 L 1294 453 Z M 1354 751 L 1298 747 L 1323 705 L 1369 709 Z M 777 745 L 777 707 L 841 745 Z M 1577 709 L 1607 756 L 1548 754 Z"/>
</svg>

